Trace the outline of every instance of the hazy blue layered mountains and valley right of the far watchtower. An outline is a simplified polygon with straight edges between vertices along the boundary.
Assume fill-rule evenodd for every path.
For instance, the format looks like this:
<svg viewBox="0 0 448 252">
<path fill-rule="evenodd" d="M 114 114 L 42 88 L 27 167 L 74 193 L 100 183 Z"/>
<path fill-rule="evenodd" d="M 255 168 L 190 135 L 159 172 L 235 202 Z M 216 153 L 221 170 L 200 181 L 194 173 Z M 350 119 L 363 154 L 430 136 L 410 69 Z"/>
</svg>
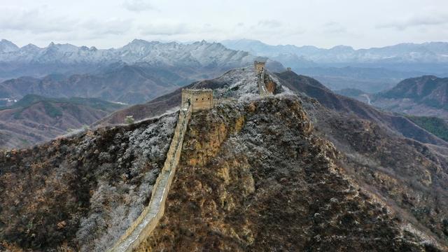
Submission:
<svg viewBox="0 0 448 252">
<path fill-rule="evenodd" d="M 231 49 L 275 59 L 297 73 L 313 76 L 332 90 L 356 88 L 379 92 L 405 78 L 424 74 L 448 76 L 448 43 L 443 42 L 402 43 L 359 50 L 345 45 L 330 49 L 267 45 L 247 39 L 222 43 Z"/>
</svg>

